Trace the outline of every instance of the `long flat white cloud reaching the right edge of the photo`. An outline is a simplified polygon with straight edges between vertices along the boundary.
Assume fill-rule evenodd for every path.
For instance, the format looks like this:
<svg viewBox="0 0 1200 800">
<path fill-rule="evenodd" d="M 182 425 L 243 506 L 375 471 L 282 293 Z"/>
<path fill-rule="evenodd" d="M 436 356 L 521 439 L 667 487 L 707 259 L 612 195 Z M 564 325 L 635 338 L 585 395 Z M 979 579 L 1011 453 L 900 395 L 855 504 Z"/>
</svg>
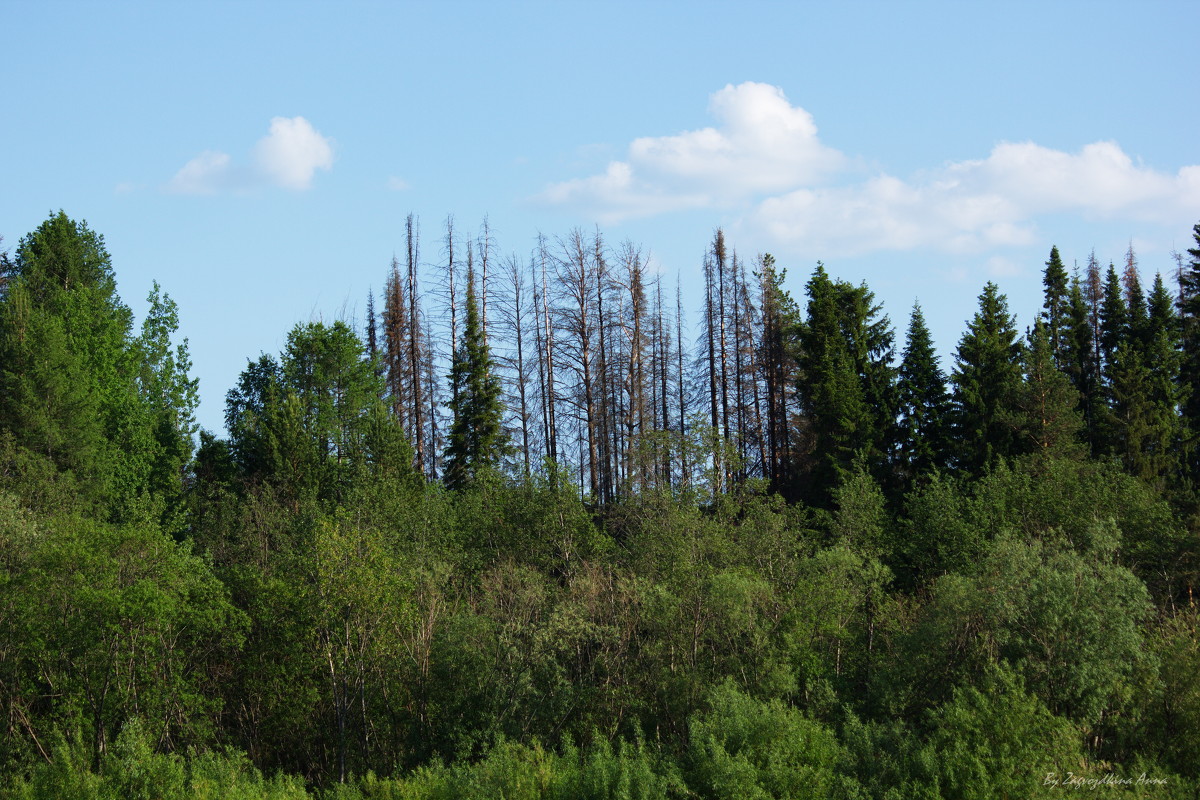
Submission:
<svg viewBox="0 0 1200 800">
<path fill-rule="evenodd" d="M 828 254 L 917 247 L 979 252 L 1031 243 L 1043 213 L 1183 223 L 1198 210 L 1200 167 L 1168 175 L 1134 164 L 1111 142 L 1079 154 L 1004 143 L 988 158 L 952 163 L 912 181 L 880 175 L 769 197 L 745 223 L 782 245 Z"/>
</svg>

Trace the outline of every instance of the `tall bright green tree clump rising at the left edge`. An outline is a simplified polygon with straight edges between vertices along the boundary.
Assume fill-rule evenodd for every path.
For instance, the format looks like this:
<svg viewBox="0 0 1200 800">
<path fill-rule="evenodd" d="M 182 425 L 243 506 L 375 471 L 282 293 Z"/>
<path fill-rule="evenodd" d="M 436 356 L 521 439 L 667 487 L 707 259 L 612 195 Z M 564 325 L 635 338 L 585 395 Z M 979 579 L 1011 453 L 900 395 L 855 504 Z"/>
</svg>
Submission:
<svg viewBox="0 0 1200 800">
<path fill-rule="evenodd" d="M 60 211 L 23 237 L 0 295 L 0 431 L 12 437 L 10 469 L 26 477 L 13 488 L 41 503 L 43 481 L 28 479 L 53 469 L 82 510 L 181 530 L 196 381 L 186 343 L 172 350 L 176 326 L 156 285 L 132 335 L 104 240 L 86 223 Z"/>
</svg>

